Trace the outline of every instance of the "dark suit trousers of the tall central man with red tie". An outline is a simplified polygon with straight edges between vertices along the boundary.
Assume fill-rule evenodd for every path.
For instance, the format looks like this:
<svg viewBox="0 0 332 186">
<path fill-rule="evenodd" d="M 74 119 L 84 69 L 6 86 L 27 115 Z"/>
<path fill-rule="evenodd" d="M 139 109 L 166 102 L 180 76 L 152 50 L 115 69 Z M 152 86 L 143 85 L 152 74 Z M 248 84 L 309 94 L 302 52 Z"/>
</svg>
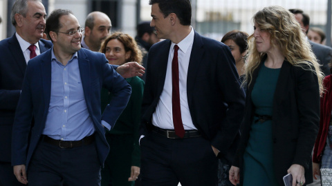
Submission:
<svg viewBox="0 0 332 186">
<path fill-rule="evenodd" d="M 216 186 L 218 159 L 203 137 L 166 138 L 150 132 L 140 140 L 142 185 Z"/>
</svg>

